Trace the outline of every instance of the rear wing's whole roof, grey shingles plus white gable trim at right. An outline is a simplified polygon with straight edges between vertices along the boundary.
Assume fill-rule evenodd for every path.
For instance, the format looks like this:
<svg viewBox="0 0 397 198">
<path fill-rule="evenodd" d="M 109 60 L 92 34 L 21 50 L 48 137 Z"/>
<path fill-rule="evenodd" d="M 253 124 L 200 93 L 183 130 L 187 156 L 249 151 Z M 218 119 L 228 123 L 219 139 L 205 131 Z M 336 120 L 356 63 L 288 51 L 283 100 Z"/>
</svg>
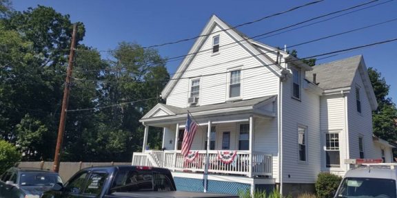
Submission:
<svg viewBox="0 0 397 198">
<path fill-rule="evenodd" d="M 365 87 L 365 93 L 371 104 L 371 109 L 378 107 L 374 89 L 369 80 L 367 67 L 365 67 L 362 55 L 345 58 L 330 63 L 316 65 L 313 70 L 306 72 L 306 78 L 313 81 L 313 74 L 316 74 L 316 83 L 323 90 L 340 89 L 352 87 L 354 75 L 359 72 Z"/>
</svg>

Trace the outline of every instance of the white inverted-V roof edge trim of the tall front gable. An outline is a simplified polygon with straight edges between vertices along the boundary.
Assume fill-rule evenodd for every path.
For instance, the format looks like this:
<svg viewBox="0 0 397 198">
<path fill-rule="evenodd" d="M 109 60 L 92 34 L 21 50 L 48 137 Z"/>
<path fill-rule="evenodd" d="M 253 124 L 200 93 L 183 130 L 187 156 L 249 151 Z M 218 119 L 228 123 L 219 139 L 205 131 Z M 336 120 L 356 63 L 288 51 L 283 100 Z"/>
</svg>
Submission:
<svg viewBox="0 0 397 198">
<path fill-rule="evenodd" d="M 221 28 L 221 30 L 229 34 L 229 36 L 231 36 L 232 39 L 238 41 L 238 44 L 241 47 L 243 47 L 243 49 L 245 49 L 247 52 L 249 52 L 252 55 L 256 55 L 253 56 L 254 58 L 256 58 L 256 60 L 263 63 L 263 65 L 269 65 L 269 67 L 267 68 L 269 68 L 272 72 L 274 72 L 276 76 L 278 77 L 281 76 L 282 68 L 279 65 L 274 64 L 275 62 L 272 60 L 272 58 L 270 58 L 266 54 L 263 54 L 261 50 L 258 50 L 258 48 L 250 42 L 250 39 L 248 39 L 247 36 L 245 36 L 245 34 L 238 32 L 236 28 L 232 28 L 230 25 L 228 25 L 227 23 L 216 17 L 215 14 L 213 14 L 212 17 L 210 18 L 210 21 L 207 22 L 207 25 L 205 25 L 205 28 L 200 34 L 207 36 L 200 36 L 199 38 L 196 39 L 189 53 L 187 53 L 191 55 L 185 56 L 181 65 L 179 65 L 178 69 L 176 69 L 174 76 L 172 76 L 171 78 L 174 80 L 168 81 L 163 91 L 161 91 L 161 97 L 163 99 L 167 98 L 171 94 L 171 91 L 175 87 L 176 83 L 178 83 L 179 78 L 183 76 L 187 67 L 190 65 L 190 63 L 192 63 L 193 59 L 196 57 L 197 52 L 199 52 L 199 50 L 205 43 L 207 37 L 210 36 L 212 30 L 214 30 L 216 25 L 218 25 L 218 27 Z M 257 56 L 257 54 L 261 54 L 261 55 Z"/>
</svg>

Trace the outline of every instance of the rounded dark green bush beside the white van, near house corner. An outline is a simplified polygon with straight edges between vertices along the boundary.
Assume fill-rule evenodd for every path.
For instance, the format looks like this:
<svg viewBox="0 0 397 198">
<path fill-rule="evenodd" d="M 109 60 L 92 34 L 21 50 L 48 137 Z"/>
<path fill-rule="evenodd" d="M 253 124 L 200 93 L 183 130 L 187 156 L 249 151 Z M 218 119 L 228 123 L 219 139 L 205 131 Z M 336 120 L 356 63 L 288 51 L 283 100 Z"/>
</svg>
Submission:
<svg viewBox="0 0 397 198">
<path fill-rule="evenodd" d="M 338 189 L 342 177 L 331 173 L 319 173 L 316 181 L 316 194 L 318 198 L 332 198 Z"/>
</svg>

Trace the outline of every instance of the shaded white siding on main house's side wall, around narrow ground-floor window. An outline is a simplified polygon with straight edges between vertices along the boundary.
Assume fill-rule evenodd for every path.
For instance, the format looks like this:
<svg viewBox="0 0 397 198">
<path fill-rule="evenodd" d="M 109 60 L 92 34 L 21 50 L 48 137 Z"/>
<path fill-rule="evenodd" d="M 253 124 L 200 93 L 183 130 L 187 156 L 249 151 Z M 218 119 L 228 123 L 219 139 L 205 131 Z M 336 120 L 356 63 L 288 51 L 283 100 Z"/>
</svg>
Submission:
<svg viewBox="0 0 397 198">
<path fill-rule="evenodd" d="M 302 89 L 301 101 L 291 100 L 292 80 L 283 82 L 283 182 L 314 183 L 320 173 L 320 96 Z M 298 159 L 297 127 L 307 127 L 307 162 Z"/>
</svg>

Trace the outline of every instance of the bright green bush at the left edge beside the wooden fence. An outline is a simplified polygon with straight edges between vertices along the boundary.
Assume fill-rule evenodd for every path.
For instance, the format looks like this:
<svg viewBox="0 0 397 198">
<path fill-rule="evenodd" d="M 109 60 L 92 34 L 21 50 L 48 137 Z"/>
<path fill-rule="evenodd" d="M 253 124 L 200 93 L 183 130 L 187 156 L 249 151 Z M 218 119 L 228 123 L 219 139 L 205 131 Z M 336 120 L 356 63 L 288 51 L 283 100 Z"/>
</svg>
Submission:
<svg viewBox="0 0 397 198">
<path fill-rule="evenodd" d="M 5 140 L 0 140 L 0 174 L 17 165 L 20 160 L 21 153 L 17 151 L 17 148 Z"/>
</svg>

